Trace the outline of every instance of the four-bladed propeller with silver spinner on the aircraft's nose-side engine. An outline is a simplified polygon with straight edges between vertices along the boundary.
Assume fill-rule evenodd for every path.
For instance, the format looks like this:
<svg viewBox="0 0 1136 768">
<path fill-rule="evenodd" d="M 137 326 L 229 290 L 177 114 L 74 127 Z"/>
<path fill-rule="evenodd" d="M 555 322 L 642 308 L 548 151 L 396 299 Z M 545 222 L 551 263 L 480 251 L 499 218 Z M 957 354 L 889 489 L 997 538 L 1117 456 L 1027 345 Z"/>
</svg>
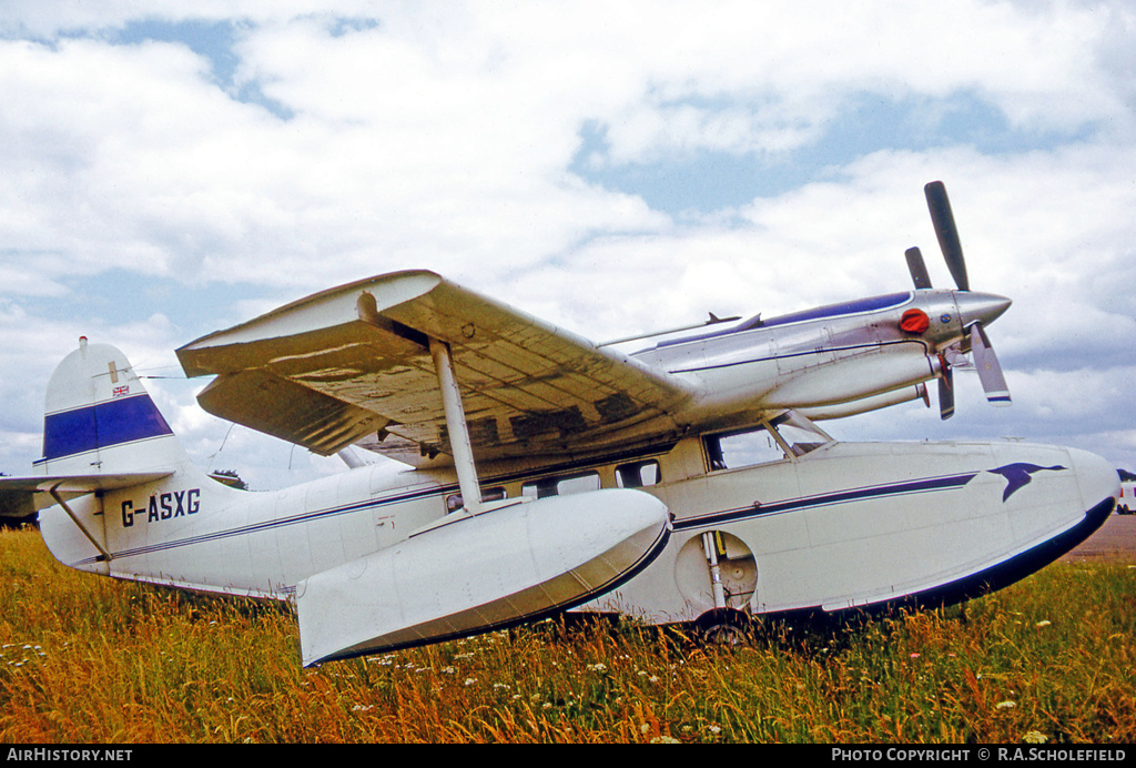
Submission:
<svg viewBox="0 0 1136 768">
<path fill-rule="evenodd" d="M 927 195 L 927 208 L 930 211 L 932 224 L 935 226 L 935 235 L 938 237 L 939 249 L 946 260 L 947 269 L 954 278 L 954 284 L 959 289 L 955 301 L 962 315 L 963 327 L 967 336 L 955 344 L 952 344 L 946 354 L 941 354 L 941 374 L 938 379 L 938 402 L 939 415 L 947 419 L 954 415 L 954 381 L 952 364 L 949 357 L 959 357 L 970 351 L 975 368 L 978 370 L 978 378 L 986 392 L 986 399 L 995 406 L 1010 404 L 1010 390 L 1002 374 L 1002 366 L 994 354 L 989 337 L 983 327 L 992 323 L 996 317 L 1006 310 L 1010 300 L 1004 297 L 989 293 L 970 293 L 970 279 L 967 277 L 967 264 L 962 258 L 962 243 L 959 240 L 959 229 L 954 224 L 954 214 L 951 212 L 951 201 L 946 197 L 946 186 L 943 182 L 930 182 L 924 187 Z M 930 277 L 927 274 L 927 265 L 924 262 L 922 253 L 918 248 L 909 248 L 907 253 L 908 270 L 914 282 L 916 290 L 930 289 Z"/>
</svg>

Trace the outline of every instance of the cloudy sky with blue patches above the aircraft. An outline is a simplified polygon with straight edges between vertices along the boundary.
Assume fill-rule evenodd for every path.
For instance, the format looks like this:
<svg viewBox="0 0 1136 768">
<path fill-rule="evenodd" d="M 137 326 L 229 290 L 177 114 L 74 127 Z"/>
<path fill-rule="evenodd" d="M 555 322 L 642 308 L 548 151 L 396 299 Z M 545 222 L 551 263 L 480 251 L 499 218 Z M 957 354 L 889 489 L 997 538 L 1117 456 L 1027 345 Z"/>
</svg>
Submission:
<svg viewBox="0 0 1136 768">
<path fill-rule="evenodd" d="M 318 7 L 318 11 L 312 8 Z M 1136 10 L 1112 2 L 6 0 L 0 471 L 80 335 L 203 467 L 337 471 L 197 408 L 177 347 L 426 267 L 607 340 L 949 286 L 951 194 L 1014 403 L 960 374 L 845 440 L 1022 439 L 1136 469 Z"/>
</svg>

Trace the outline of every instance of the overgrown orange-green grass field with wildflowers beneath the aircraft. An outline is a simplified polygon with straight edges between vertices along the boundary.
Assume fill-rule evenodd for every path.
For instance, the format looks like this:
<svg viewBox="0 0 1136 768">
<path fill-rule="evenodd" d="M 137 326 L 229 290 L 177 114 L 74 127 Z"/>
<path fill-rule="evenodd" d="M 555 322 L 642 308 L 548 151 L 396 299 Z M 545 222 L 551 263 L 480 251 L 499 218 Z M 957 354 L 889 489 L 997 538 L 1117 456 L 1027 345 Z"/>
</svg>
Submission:
<svg viewBox="0 0 1136 768">
<path fill-rule="evenodd" d="M 0 740 L 1136 742 L 1136 568 L 703 649 L 548 621 L 303 669 L 285 607 L 80 574 L 0 531 Z"/>
</svg>

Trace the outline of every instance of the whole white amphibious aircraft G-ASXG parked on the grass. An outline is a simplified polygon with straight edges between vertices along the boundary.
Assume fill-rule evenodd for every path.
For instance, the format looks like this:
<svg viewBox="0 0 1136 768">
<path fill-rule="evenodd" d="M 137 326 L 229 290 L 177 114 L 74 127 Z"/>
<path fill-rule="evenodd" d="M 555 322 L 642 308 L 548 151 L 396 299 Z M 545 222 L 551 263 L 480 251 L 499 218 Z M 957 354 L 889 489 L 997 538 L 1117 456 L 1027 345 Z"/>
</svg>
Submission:
<svg viewBox="0 0 1136 768">
<path fill-rule="evenodd" d="M 926 400 L 933 378 L 947 417 L 968 353 L 1009 402 L 985 328 L 1010 302 L 969 290 L 942 185 L 927 195 L 957 290 L 933 289 L 912 249 L 914 291 L 712 318 L 625 354 L 401 272 L 177 350 L 215 377 L 207 411 L 353 465 L 279 492 L 206 476 L 123 353 L 83 340 L 48 384 L 43 459 L 0 493 L 41 509 L 70 567 L 294 601 L 304 665 L 566 609 L 727 632 L 962 600 L 1083 541 L 1119 477 L 1074 449 L 816 426 Z"/>
</svg>

